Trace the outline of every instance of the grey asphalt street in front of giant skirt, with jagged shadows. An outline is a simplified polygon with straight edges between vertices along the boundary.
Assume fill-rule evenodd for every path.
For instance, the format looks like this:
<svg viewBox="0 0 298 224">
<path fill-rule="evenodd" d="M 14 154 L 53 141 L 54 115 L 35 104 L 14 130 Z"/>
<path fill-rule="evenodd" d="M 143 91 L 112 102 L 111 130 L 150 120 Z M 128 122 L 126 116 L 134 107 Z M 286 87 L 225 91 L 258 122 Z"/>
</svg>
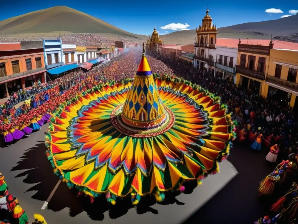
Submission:
<svg viewBox="0 0 298 224">
<path fill-rule="evenodd" d="M 182 223 L 191 214 L 200 209 L 232 180 L 238 172 L 227 160 L 220 164 L 220 171 L 203 180 L 202 185 L 191 194 L 180 194 L 167 200 L 166 204 L 156 204 L 146 200 L 137 207 L 109 206 L 105 201 L 90 204 L 88 197 L 77 197 L 77 191 L 69 190 L 60 183 L 45 210 L 44 202 L 58 182 L 44 154 L 44 131 L 47 125 L 26 139 L 6 148 L 0 148 L 0 171 L 5 176 L 9 191 L 20 201 L 30 222 L 33 214 L 43 215 L 47 223 Z M 33 199 L 34 198 L 34 199 Z M 144 202 L 144 201 L 143 201 Z M 220 219 L 219 219 L 220 220 Z"/>
</svg>

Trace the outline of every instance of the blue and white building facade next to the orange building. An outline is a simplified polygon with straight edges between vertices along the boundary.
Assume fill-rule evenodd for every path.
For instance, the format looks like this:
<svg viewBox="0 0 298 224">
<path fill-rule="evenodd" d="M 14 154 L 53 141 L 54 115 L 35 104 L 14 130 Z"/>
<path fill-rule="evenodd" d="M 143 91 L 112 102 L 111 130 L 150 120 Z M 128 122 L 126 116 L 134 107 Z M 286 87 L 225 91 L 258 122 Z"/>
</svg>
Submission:
<svg viewBox="0 0 298 224">
<path fill-rule="evenodd" d="M 44 63 L 46 69 L 51 69 L 63 65 L 63 51 L 62 41 L 57 40 L 43 40 L 44 47 Z"/>
</svg>

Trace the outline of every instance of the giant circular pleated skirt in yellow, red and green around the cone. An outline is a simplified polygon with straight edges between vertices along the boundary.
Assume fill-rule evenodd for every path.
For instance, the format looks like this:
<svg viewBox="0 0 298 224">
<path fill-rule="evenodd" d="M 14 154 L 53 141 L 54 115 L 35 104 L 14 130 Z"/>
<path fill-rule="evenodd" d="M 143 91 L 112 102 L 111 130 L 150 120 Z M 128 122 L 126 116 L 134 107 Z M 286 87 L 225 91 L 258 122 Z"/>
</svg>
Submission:
<svg viewBox="0 0 298 224">
<path fill-rule="evenodd" d="M 46 140 L 56 174 L 86 194 L 116 198 L 159 195 L 216 173 L 233 138 L 225 107 L 188 85 L 156 85 L 169 120 L 142 136 L 111 120 L 119 118 L 131 83 L 103 87 L 63 106 Z"/>
</svg>

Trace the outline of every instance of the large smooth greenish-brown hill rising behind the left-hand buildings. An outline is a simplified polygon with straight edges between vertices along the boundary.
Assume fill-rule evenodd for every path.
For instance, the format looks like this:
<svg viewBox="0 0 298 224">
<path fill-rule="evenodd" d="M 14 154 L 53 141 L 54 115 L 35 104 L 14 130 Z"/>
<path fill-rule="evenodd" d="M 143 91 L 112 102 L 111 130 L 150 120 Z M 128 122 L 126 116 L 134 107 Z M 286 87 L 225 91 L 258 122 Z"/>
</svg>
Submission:
<svg viewBox="0 0 298 224">
<path fill-rule="evenodd" d="M 0 34 L 111 33 L 140 38 L 78 10 L 55 6 L 0 21 Z M 144 35 L 141 35 L 144 36 Z"/>
</svg>

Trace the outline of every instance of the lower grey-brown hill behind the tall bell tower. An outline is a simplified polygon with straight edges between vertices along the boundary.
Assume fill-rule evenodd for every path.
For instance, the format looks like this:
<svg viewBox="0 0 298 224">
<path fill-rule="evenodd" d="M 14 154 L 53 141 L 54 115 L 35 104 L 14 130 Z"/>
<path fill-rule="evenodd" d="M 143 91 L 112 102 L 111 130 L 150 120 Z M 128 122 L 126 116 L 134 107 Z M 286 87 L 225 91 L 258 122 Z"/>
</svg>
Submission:
<svg viewBox="0 0 298 224">
<path fill-rule="evenodd" d="M 272 34 L 273 37 L 283 36 L 289 41 L 292 39 L 292 33 L 298 33 L 298 14 L 275 20 L 221 27 L 217 31 L 218 38 L 270 39 Z M 164 35 L 164 44 L 191 44 L 194 43 L 195 36 L 195 30 L 176 31 Z"/>
</svg>

